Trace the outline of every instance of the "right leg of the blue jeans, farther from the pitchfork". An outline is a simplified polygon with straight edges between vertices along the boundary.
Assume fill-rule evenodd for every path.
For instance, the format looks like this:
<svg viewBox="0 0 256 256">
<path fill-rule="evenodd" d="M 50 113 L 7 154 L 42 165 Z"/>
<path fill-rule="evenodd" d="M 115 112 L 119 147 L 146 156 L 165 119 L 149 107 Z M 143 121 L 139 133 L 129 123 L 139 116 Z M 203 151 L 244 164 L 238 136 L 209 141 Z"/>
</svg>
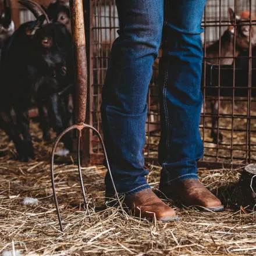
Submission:
<svg viewBox="0 0 256 256">
<path fill-rule="evenodd" d="M 169 1 L 163 25 L 161 73 L 161 184 L 197 177 L 203 144 L 200 33 L 205 0 Z"/>
</svg>

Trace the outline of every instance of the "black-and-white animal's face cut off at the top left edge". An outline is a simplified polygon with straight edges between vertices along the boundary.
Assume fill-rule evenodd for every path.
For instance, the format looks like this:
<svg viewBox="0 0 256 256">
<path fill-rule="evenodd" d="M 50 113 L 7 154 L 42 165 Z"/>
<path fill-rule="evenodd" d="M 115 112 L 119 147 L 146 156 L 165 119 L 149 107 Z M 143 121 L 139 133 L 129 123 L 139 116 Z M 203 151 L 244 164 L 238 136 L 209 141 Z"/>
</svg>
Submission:
<svg viewBox="0 0 256 256">
<path fill-rule="evenodd" d="M 3 6 L 0 16 L 0 48 L 9 39 L 15 30 L 15 26 L 12 20 L 12 11 L 10 8 L 10 2 L 3 1 Z"/>
</svg>

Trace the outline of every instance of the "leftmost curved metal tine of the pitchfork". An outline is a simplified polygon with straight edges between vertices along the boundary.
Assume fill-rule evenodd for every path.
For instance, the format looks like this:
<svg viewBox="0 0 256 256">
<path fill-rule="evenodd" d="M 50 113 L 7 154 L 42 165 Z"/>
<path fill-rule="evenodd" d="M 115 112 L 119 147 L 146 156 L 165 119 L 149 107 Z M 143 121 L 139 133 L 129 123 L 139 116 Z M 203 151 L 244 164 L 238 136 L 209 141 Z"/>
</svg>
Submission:
<svg viewBox="0 0 256 256">
<path fill-rule="evenodd" d="M 52 192 L 54 193 L 54 201 L 55 201 L 55 206 L 56 206 L 56 211 L 59 219 L 59 226 L 61 227 L 61 231 L 63 232 L 63 226 L 62 226 L 62 221 L 61 221 L 61 214 L 59 212 L 59 204 L 58 204 L 58 199 L 56 196 L 56 190 L 55 190 L 55 182 L 54 182 L 54 153 L 57 147 L 57 144 L 61 140 L 61 138 L 70 130 L 77 129 L 76 125 L 72 125 L 69 128 L 65 129 L 62 131 L 61 134 L 56 138 L 54 147 L 52 148 L 52 153 L 51 153 L 51 180 L 52 180 Z"/>
</svg>

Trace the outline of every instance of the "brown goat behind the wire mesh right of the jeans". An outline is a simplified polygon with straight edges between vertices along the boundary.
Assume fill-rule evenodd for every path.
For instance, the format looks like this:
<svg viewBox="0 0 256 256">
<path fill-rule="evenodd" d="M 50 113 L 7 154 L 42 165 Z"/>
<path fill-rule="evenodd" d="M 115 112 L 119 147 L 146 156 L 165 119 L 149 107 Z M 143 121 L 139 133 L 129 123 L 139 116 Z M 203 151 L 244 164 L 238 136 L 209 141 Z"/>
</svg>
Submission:
<svg viewBox="0 0 256 256">
<path fill-rule="evenodd" d="M 250 44 L 252 47 L 256 45 L 256 26 L 250 26 L 249 12 L 244 11 L 240 16 L 236 16 L 230 8 L 228 12 L 229 20 L 232 24 L 236 24 L 236 29 L 233 25 L 230 26 L 218 41 L 204 49 L 205 65 L 202 65 L 202 91 L 207 96 L 232 97 L 233 88 L 231 87 L 234 84 L 234 96 L 247 97 L 248 65 L 246 65 L 243 55 L 244 51 L 248 51 L 250 48 Z M 254 15 L 251 16 L 251 19 L 255 18 Z M 236 61 L 233 63 L 234 59 Z M 241 61 L 242 59 L 243 61 Z M 252 71 L 252 86 L 254 86 L 255 75 L 255 71 Z M 211 101 L 211 137 L 215 143 L 221 142 L 223 139 L 222 133 L 218 132 L 218 109 L 219 102 L 213 99 Z"/>
</svg>

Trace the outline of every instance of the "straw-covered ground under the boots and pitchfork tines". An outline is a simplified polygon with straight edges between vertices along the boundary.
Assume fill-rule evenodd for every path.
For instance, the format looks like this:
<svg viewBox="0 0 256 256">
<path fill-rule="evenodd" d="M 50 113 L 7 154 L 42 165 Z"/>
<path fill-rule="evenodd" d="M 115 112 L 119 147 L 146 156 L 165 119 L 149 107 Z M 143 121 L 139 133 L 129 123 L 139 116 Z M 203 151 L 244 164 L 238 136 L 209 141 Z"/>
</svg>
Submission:
<svg viewBox="0 0 256 256">
<path fill-rule="evenodd" d="M 3 133 L 0 136 L 7 145 Z M 37 126 L 33 127 L 33 136 L 41 136 Z M 65 226 L 62 234 L 47 160 L 51 145 L 35 139 L 34 143 L 37 161 L 17 162 L 11 151 L 0 158 L 0 255 L 13 247 L 22 255 L 256 255 L 256 214 L 247 207 L 236 185 L 240 170 L 199 172 L 202 182 L 225 202 L 227 211 L 202 213 L 175 201 L 171 204 L 180 221 L 162 224 L 134 218 L 126 221 L 116 209 L 103 209 L 103 166 L 83 168 L 90 222 L 83 209 L 76 166 L 56 165 Z M 150 164 L 147 167 L 148 182 L 157 189 L 160 168 Z M 37 198 L 39 205 L 22 205 L 26 196 Z"/>
</svg>

